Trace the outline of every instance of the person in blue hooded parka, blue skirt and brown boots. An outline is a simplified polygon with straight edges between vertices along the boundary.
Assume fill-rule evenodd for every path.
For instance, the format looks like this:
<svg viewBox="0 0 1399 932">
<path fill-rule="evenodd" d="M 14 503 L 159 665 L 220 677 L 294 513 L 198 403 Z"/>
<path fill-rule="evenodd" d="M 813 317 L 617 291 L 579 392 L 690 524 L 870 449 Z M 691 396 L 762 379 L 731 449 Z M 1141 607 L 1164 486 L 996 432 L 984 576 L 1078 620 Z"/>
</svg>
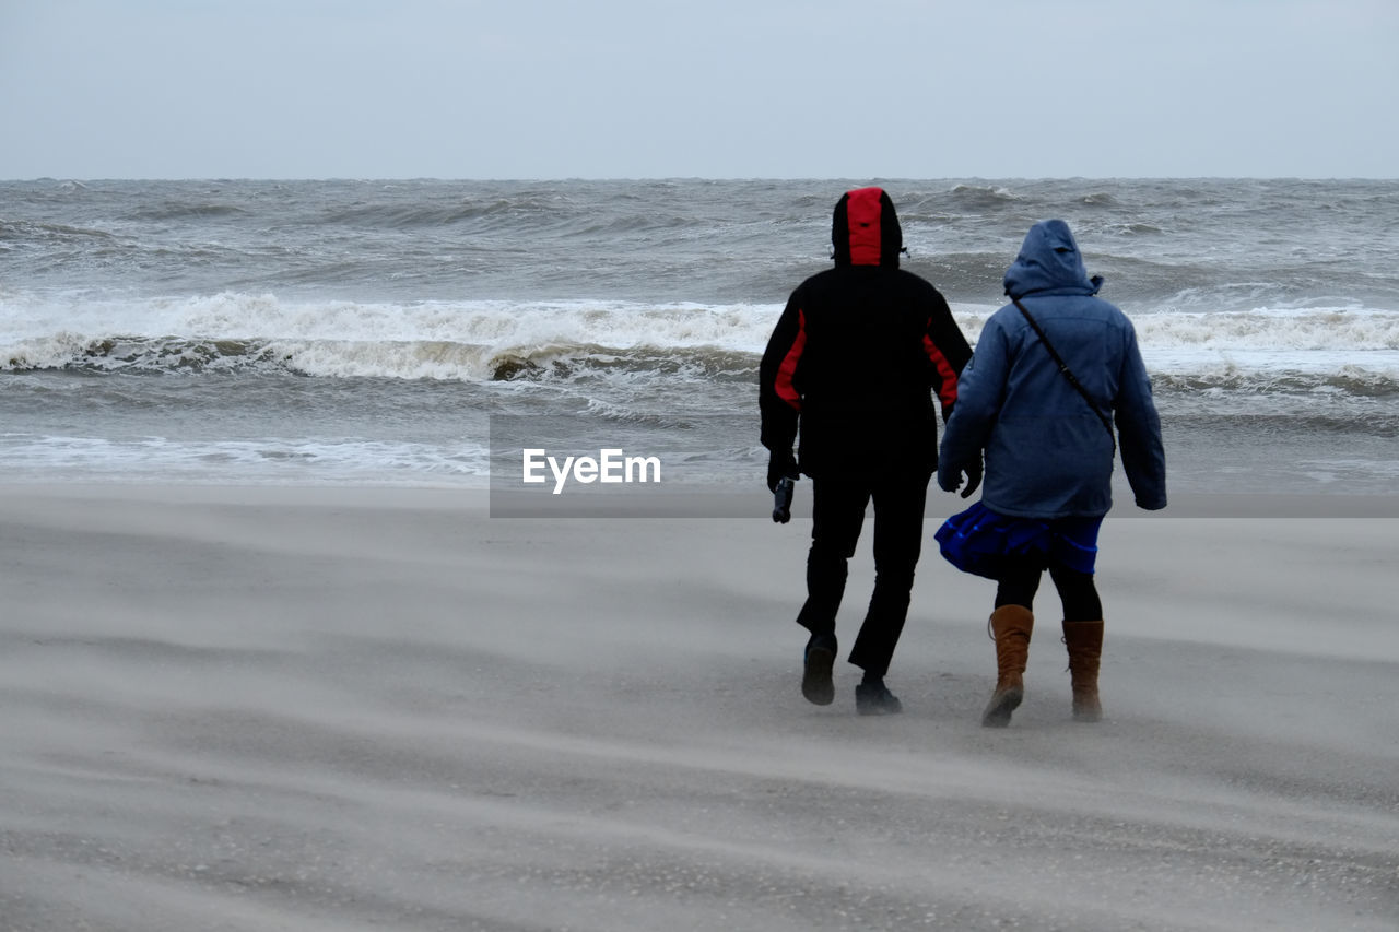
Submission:
<svg viewBox="0 0 1399 932">
<path fill-rule="evenodd" d="M 1088 277 L 1066 223 L 1031 227 L 1004 284 L 1011 302 L 986 320 L 961 374 L 937 467 L 947 491 L 965 473 L 965 497 L 985 458 L 982 497 L 950 518 L 937 540 L 960 570 L 997 582 L 997 676 L 982 725 L 1009 725 L 1024 697 L 1045 570 L 1063 603 L 1073 716 L 1098 721 L 1098 526 L 1112 507 L 1119 445 L 1136 504 L 1165 508 L 1161 423 L 1132 323 L 1095 297 L 1102 278 Z"/>
</svg>

